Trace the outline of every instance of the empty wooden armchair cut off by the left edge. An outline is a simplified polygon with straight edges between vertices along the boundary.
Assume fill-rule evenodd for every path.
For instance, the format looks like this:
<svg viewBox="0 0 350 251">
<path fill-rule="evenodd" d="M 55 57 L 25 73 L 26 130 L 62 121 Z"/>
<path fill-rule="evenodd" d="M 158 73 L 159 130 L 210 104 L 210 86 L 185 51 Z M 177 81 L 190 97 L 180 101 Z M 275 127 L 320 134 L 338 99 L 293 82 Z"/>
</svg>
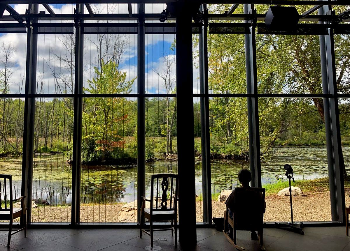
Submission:
<svg viewBox="0 0 350 251">
<path fill-rule="evenodd" d="M 8 229 L 0 229 L 0 231 L 8 231 L 8 239 L 7 239 L 7 246 L 10 246 L 11 242 L 11 236 L 18 233 L 19 231 L 24 230 L 24 237 L 27 237 L 27 219 L 26 219 L 26 213 L 27 208 L 25 206 L 24 199 L 26 196 L 21 196 L 17 199 L 12 199 L 12 175 L 6 175 L 6 174 L 0 174 L 0 180 L 3 179 L 3 191 L 4 191 L 4 208 L 2 208 L 1 203 L 1 182 L 0 182 L 0 221 L 9 221 L 9 227 Z M 6 185 L 6 180 L 8 180 L 8 187 Z M 9 197 L 7 197 L 7 189 L 9 189 Z M 13 202 L 21 201 L 21 208 L 14 208 Z M 9 205 L 7 203 L 9 202 Z M 12 229 L 13 220 L 15 218 L 21 217 L 21 224 L 22 228 L 20 229 Z M 12 230 L 17 230 L 15 232 L 12 232 Z"/>
</svg>

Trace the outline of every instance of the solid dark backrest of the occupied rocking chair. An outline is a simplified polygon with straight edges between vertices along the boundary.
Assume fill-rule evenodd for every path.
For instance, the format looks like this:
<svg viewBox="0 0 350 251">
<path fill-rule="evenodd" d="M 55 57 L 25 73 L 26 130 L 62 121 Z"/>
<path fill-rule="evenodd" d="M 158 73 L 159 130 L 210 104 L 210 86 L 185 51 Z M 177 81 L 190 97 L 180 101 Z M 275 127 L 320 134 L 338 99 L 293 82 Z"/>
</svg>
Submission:
<svg viewBox="0 0 350 251">
<path fill-rule="evenodd" d="M 265 188 L 235 189 L 234 224 L 240 230 L 262 228 L 265 212 Z"/>
</svg>

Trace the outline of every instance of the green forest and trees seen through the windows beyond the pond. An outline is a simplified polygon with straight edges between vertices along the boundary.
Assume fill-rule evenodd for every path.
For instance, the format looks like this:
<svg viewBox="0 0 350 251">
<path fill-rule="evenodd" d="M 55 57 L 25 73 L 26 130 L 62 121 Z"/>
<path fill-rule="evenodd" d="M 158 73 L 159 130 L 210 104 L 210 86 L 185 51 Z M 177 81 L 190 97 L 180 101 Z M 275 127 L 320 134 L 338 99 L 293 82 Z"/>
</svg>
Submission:
<svg viewBox="0 0 350 251">
<path fill-rule="evenodd" d="M 215 5 L 224 11 L 226 5 Z M 299 12 L 306 10 L 298 6 Z M 264 11 L 264 10 L 260 10 Z M 349 93 L 349 35 L 334 37 L 337 87 L 339 93 Z M 52 37 L 51 37 L 52 39 Z M 48 78 L 53 79 L 52 93 L 73 93 L 73 35 L 54 38 L 62 51 L 50 48 L 43 55 L 44 69 L 37 70 L 37 93 L 44 93 Z M 128 35 L 99 34 L 86 38 L 96 56 L 85 69 L 84 93 L 132 93 L 137 77 L 127 72 L 131 38 Z M 319 37 L 314 35 L 257 35 L 258 92 L 262 94 L 321 94 L 322 76 Z M 194 35 L 194 48 L 198 37 Z M 10 93 L 18 86 L 23 93 L 24 78 L 13 83 L 15 48 L 10 43 L 1 46 L 0 91 Z M 91 48 L 90 48 L 91 50 Z M 175 41 L 169 53 L 157 59 L 162 65 L 152 69 L 160 79 L 165 93 L 176 93 Z M 194 50 L 194 62 L 198 51 Z M 59 62 L 59 64 L 57 63 Z M 244 35 L 208 34 L 208 71 L 211 93 L 244 94 L 246 89 Z M 64 73 L 62 71 L 64 69 Z M 86 72 L 89 72 L 87 74 Z M 158 81 L 158 80 L 157 80 Z M 12 90 L 11 90 L 12 91 Z M 198 101 L 198 102 L 197 102 Z M 342 144 L 350 143 L 349 99 L 339 99 L 339 119 Z M 34 118 L 35 153 L 64 152 L 72 159 L 73 98 L 37 98 Z M 176 98 L 146 98 L 146 158 L 175 159 L 177 153 Z M 269 158 L 275 146 L 324 145 L 324 108 L 322 98 L 259 98 L 261 158 Z M 85 164 L 130 163 L 137 160 L 137 99 L 123 97 L 91 97 L 83 99 L 82 162 Z M 0 99 L 0 152 L 21 154 L 24 101 Z M 201 156 L 200 103 L 194 100 L 196 155 Z M 247 98 L 224 97 L 209 100 L 210 145 L 215 156 L 245 156 L 248 158 Z"/>
</svg>

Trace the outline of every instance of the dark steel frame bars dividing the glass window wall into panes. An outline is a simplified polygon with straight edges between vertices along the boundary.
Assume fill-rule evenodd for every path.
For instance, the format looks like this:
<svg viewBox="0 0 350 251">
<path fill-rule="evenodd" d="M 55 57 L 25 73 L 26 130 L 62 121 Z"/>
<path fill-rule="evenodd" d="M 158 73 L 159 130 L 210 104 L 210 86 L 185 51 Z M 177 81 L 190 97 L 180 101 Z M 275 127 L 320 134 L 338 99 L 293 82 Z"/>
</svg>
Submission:
<svg viewBox="0 0 350 251">
<path fill-rule="evenodd" d="M 144 4 L 139 4 L 139 13 L 126 16 L 124 14 L 100 14 L 94 15 L 93 17 L 89 14 L 83 13 L 84 5 L 77 3 L 75 14 L 56 14 L 55 16 L 49 14 L 38 14 L 38 3 L 50 2 L 50 1 L 31 1 L 34 4 L 29 4 L 28 9 L 33 12 L 28 12 L 26 15 L 20 15 L 26 20 L 27 28 L 27 62 L 26 62 L 26 86 L 25 94 L 0 94 L 1 98 L 23 98 L 25 100 L 25 113 L 24 113 L 24 128 L 23 128 L 23 161 L 22 161 L 22 194 L 27 195 L 27 200 L 31 200 L 31 189 L 32 189 L 32 178 L 33 178 L 33 139 L 34 139 L 34 122 L 33 117 L 35 114 L 35 98 L 75 98 L 74 106 L 74 139 L 73 151 L 73 175 L 72 175 L 72 186 L 73 186 L 73 197 L 74 204 L 72 203 L 72 219 L 71 224 L 79 224 L 79 182 L 80 182 L 80 144 L 81 143 L 81 102 L 85 97 L 129 97 L 138 99 L 138 125 L 145 123 L 145 106 L 144 101 L 147 97 L 176 97 L 177 94 L 146 94 L 145 93 L 145 57 L 144 57 L 144 44 L 145 44 L 145 20 L 158 20 L 158 14 L 145 14 Z M 56 3 L 57 1 L 55 1 Z M 67 1 L 65 1 L 67 2 Z M 78 2 L 78 1 L 71 1 Z M 84 1 L 86 2 L 86 1 Z M 154 2 L 154 1 L 152 1 Z M 254 1 L 251 1 L 254 2 Z M 276 1 L 276 3 L 282 1 Z M 303 3 L 302 3 L 303 2 Z M 316 3 L 317 2 L 317 3 Z M 330 1 L 300 1 L 298 4 L 322 4 L 323 7 L 318 10 L 318 15 L 308 16 L 303 21 L 319 21 L 321 24 L 329 24 L 331 17 L 331 6 L 324 5 L 337 3 Z M 4 1 L 5 3 L 5 1 Z M 15 3 L 28 3 L 25 0 L 10 1 L 9 4 Z M 242 2 L 243 3 L 243 2 Z M 259 2 L 261 3 L 261 2 Z M 262 4 L 272 4 L 273 1 L 266 1 Z M 283 1 L 284 4 L 290 4 L 290 1 Z M 341 4 L 342 5 L 342 4 Z M 202 6 L 202 10 L 205 11 L 206 5 Z M 257 20 L 263 20 L 262 15 L 258 15 L 254 12 L 254 5 L 245 4 L 244 14 L 232 14 L 230 17 L 221 14 L 207 14 L 207 18 L 202 26 L 202 33 L 200 33 L 200 93 L 193 94 L 193 97 L 200 98 L 201 104 L 201 123 L 202 125 L 202 156 L 205 156 L 202 162 L 203 167 L 203 219 L 205 223 L 211 224 L 211 179 L 210 179 L 210 149 L 209 149 L 209 106 L 208 102 L 211 97 L 245 97 L 248 99 L 250 106 L 248 107 L 248 118 L 250 119 L 250 151 L 255 155 L 254 161 L 252 161 L 251 168 L 253 170 L 253 182 L 255 186 L 261 186 L 261 170 L 260 170 L 260 158 L 257 158 L 259 153 L 259 122 L 258 120 L 258 98 L 259 97 L 280 97 L 280 98 L 323 98 L 325 102 L 325 117 L 326 117 L 326 136 L 327 136 L 327 156 L 329 166 L 329 177 L 330 177 L 330 196 L 331 196 L 331 213 L 332 213 L 332 224 L 339 224 L 344 222 L 344 181 L 342 172 L 339 168 L 339 152 L 338 149 L 341 147 L 340 142 L 340 131 L 339 131 L 339 114 L 338 114 L 338 98 L 350 98 L 350 94 L 338 94 L 337 87 L 334 84 L 335 79 L 335 62 L 334 62 L 334 44 L 333 44 L 333 30 L 328 28 L 328 35 L 320 35 L 320 49 L 321 49 L 321 65 L 322 65 L 322 83 L 323 93 L 322 94 L 259 94 L 257 93 L 257 79 L 256 79 L 256 55 L 255 55 L 255 27 Z M 33 33 L 33 26 L 37 23 L 38 19 L 41 20 L 73 20 L 76 29 L 76 76 L 75 76 L 75 92 L 73 94 L 36 94 L 35 83 L 36 83 L 36 58 L 37 58 L 37 34 Z M 83 34 L 80 31 L 80 27 L 83 24 L 83 20 L 98 20 L 98 19 L 111 19 L 111 20 L 137 20 L 138 21 L 138 93 L 136 94 L 84 94 L 82 91 L 82 48 L 83 48 Z M 174 20 L 173 17 L 170 19 Z M 250 23 L 250 33 L 245 34 L 246 43 L 246 71 L 247 71 L 247 93 L 246 94 L 210 94 L 208 91 L 208 62 L 207 62 L 207 29 L 208 19 L 211 20 L 243 20 L 246 23 Z M 12 20 L 12 17 L 1 17 L 0 20 Z M 161 26 L 162 24 L 160 24 Z M 6 25 L 4 25 L 6 26 Z M 9 24 L 13 26 L 13 24 Z M 143 45 L 143 46 L 142 46 Z M 142 52 L 143 51 L 143 52 Z M 141 57 L 140 57 L 141 56 Z M 143 76 L 143 77 L 142 77 Z M 139 102 L 141 101 L 141 102 Z M 143 105 L 142 105 L 143 103 Z M 140 104 L 140 106 L 139 106 Z M 79 129 L 80 128 L 80 129 Z M 145 159 L 144 157 L 144 127 L 139 129 L 138 134 L 143 135 L 140 141 L 138 140 L 138 151 L 139 159 Z M 80 131 L 81 132 L 81 131 Z M 142 142 L 143 138 L 143 142 Z M 205 146 L 205 147 L 203 147 Z M 138 165 L 138 182 L 145 181 L 145 165 Z M 143 175 L 140 175 L 142 174 Z M 142 179 L 142 180 L 141 180 Z M 138 198 L 145 194 L 145 187 L 140 186 L 138 189 Z M 28 208 L 28 222 L 30 222 L 30 207 Z M 321 223 L 321 222 L 320 222 Z M 321 224 L 326 224 L 322 222 Z M 89 224 L 90 225 L 90 224 Z M 127 224 L 131 227 L 135 224 Z M 203 224 L 197 224 L 201 226 Z M 48 226 L 48 224 L 45 224 Z M 106 224 L 103 224 L 106 227 Z M 115 225 L 114 225 L 115 226 Z M 124 226 L 125 224 L 120 224 Z"/>
</svg>

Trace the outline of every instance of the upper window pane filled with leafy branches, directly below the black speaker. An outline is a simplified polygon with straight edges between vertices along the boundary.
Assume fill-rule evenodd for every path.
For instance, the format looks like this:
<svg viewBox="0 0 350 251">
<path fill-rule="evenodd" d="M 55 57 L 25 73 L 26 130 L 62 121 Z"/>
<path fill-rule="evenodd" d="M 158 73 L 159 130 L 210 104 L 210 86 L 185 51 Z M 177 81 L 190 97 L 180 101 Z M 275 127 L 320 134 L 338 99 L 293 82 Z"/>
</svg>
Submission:
<svg viewBox="0 0 350 251">
<path fill-rule="evenodd" d="M 320 38 L 257 35 L 259 93 L 322 93 Z"/>
</svg>

